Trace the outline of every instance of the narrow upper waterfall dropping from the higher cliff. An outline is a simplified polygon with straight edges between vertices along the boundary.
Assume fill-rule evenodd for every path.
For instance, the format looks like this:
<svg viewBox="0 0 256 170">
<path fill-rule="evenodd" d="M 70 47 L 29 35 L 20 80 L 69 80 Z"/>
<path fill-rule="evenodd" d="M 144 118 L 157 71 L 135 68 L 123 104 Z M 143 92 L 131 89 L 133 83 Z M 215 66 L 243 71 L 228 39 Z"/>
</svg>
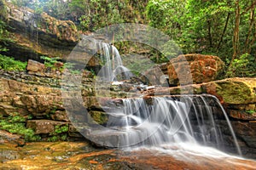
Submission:
<svg viewBox="0 0 256 170">
<path fill-rule="evenodd" d="M 98 77 L 103 81 L 113 82 L 128 80 L 133 75 L 131 71 L 127 69 L 119 55 L 119 51 L 113 45 L 105 42 L 95 42 L 97 44 L 97 50 L 99 50 L 102 61 L 102 69 L 98 73 Z"/>
</svg>

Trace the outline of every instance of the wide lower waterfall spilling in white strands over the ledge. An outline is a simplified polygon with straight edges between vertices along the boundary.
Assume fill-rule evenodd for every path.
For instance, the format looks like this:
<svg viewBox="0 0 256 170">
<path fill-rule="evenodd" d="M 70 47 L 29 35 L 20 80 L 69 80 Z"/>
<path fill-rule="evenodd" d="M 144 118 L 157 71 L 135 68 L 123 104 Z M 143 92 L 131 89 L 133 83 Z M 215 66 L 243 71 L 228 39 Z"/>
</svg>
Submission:
<svg viewBox="0 0 256 170">
<path fill-rule="evenodd" d="M 214 118 L 217 115 L 213 108 L 218 107 L 230 128 L 234 146 L 241 154 L 228 116 L 212 95 L 122 99 L 122 105 L 108 111 L 107 124 L 108 128 L 122 132 L 119 145 L 137 147 L 187 143 L 223 150 L 223 134 Z"/>
</svg>

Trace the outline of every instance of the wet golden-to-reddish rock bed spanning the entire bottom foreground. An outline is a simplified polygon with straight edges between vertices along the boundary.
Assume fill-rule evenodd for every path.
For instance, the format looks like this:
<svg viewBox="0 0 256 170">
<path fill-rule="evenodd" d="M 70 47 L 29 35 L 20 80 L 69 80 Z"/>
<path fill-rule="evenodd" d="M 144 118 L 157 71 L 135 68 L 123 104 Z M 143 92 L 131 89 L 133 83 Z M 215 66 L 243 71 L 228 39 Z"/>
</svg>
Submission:
<svg viewBox="0 0 256 170">
<path fill-rule="evenodd" d="M 103 150 L 87 142 L 0 144 L 1 169 L 253 169 L 256 161 L 230 156 L 175 155 L 156 150 Z M 170 149 L 166 149 L 170 150 Z M 181 153 L 181 152 L 180 152 Z"/>
</svg>

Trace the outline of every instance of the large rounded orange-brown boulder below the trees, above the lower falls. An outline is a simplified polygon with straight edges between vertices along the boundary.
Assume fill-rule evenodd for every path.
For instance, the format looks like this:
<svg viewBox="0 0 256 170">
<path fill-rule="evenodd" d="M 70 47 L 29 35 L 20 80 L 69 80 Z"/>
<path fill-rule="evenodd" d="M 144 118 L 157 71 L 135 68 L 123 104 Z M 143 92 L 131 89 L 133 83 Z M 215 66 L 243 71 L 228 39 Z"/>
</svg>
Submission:
<svg viewBox="0 0 256 170">
<path fill-rule="evenodd" d="M 213 55 L 185 54 L 171 59 L 167 69 L 172 86 L 191 83 L 189 72 L 193 83 L 211 82 L 223 71 L 224 62 Z"/>
</svg>

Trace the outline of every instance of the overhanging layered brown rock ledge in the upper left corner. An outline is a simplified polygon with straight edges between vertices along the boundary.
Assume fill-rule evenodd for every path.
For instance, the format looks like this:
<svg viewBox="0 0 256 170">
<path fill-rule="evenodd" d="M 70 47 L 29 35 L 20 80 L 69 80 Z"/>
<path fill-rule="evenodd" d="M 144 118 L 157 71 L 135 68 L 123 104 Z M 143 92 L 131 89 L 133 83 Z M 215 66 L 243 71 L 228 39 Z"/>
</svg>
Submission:
<svg viewBox="0 0 256 170">
<path fill-rule="evenodd" d="M 56 20 L 46 13 L 18 8 L 0 1 L 0 17 L 9 23 L 10 38 L 0 41 L 9 51 L 3 53 L 21 60 L 39 60 L 41 55 L 67 58 L 79 40 L 79 32 L 70 20 Z M 22 56 L 22 58 L 20 58 Z"/>
</svg>

